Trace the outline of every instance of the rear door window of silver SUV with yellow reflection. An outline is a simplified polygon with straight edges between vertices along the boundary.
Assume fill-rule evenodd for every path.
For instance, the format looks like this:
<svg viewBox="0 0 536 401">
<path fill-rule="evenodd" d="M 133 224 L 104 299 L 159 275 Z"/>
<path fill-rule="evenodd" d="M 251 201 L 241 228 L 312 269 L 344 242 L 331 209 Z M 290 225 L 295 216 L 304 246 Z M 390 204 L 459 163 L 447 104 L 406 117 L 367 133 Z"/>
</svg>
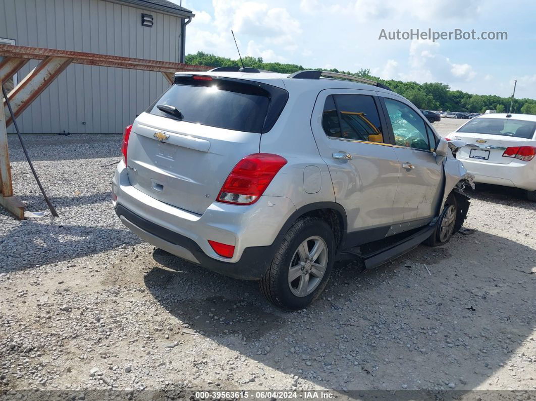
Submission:
<svg viewBox="0 0 536 401">
<path fill-rule="evenodd" d="M 330 95 L 324 105 L 322 125 L 328 137 L 383 143 L 372 96 Z"/>
</svg>

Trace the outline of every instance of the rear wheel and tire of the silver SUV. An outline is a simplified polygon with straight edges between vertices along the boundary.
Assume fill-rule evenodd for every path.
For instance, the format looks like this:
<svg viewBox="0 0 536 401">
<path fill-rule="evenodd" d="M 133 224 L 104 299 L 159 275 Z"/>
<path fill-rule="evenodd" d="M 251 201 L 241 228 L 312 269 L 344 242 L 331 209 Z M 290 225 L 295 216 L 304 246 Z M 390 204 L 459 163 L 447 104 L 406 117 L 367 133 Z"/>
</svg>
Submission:
<svg viewBox="0 0 536 401">
<path fill-rule="evenodd" d="M 324 291 L 335 251 L 333 231 L 325 221 L 316 217 L 297 221 L 260 280 L 260 291 L 279 308 L 307 307 Z"/>
</svg>

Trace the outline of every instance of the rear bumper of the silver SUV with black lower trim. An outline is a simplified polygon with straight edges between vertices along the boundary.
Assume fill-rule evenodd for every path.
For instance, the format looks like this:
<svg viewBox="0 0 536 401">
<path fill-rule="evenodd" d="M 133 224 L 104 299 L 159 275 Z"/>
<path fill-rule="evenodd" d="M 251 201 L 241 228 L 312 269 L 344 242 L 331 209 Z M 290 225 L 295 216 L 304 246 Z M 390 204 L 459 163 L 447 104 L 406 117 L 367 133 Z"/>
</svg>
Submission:
<svg viewBox="0 0 536 401">
<path fill-rule="evenodd" d="M 282 224 L 296 210 L 281 196 L 261 196 L 249 206 L 214 202 L 203 215 L 158 201 L 130 185 L 123 162 L 112 181 L 114 207 L 140 238 L 218 273 L 259 279 L 273 259 Z M 208 240 L 234 245 L 233 257 L 214 252 Z"/>
</svg>

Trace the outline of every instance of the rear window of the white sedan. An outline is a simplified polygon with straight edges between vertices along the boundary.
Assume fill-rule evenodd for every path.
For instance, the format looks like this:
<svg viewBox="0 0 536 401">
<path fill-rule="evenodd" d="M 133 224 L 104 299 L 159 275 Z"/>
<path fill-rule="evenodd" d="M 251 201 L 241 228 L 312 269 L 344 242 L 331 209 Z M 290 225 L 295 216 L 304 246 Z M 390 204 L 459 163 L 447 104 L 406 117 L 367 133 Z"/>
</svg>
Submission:
<svg viewBox="0 0 536 401">
<path fill-rule="evenodd" d="M 533 121 L 511 118 L 473 118 L 457 132 L 532 139 L 535 129 L 536 122 Z"/>
</svg>

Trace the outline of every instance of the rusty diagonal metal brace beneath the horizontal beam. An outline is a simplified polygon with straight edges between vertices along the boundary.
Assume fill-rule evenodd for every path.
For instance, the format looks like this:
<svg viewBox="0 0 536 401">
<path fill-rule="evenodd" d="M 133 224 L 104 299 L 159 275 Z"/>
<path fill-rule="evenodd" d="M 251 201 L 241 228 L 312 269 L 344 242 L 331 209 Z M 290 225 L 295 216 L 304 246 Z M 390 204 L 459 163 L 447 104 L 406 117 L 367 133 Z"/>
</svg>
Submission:
<svg viewBox="0 0 536 401">
<path fill-rule="evenodd" d="M 18 117 L 46 89 L 56 77 L 71 64 L 67 57 L 47 57 L 24 77 L 8 94 L 15 117 Z M 5 114 L 9 111 L 4 103 Z M 6 126 L 12 123 L 11 116 L 6 119 Z"/>
</svg>

